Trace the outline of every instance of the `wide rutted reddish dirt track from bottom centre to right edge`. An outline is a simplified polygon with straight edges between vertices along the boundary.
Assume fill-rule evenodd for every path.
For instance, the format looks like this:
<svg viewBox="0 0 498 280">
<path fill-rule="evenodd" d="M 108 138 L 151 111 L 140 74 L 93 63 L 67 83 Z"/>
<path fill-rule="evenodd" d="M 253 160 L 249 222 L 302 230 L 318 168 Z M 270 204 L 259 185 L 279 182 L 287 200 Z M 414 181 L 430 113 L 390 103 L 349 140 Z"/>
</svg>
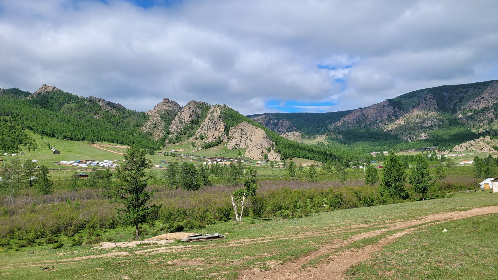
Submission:
<svg viewBox="0 0 498 280">
<path fill-rule="evenodd" d="M 382 247 L 396 240 L 398 237 L 408 234 L 412 231 L 418 230 L 427 225 L 418 226 L 415 228 L 406 229 L 409 227 L 417 226 L 420 224 L 434 222 L 434 221 L 451 221 L 469 218 L 477 215 L 498 213 L 498 206 L 474 208 L 466 211 L 456 211 L 448 213 L 440 213 L 425 216 L 422 219 L 411 220 L 405 222 L 397 222 L 391 224 L 387 229 L 379 229 L 371 232 L 361 233 L 352 236 L 348 240 L 336 240 L 333 244 L 325 245 L 317 251 L 304 256 L 298 260 L 285 263 L 284 265 L 273 265 L 270 270 L 261 271 L 257 268 L 245 270 L 240 273 L 239 279 L 255 280 L 255 279 L 344 279 L 343 274 L 355 264 L 370 259 L 370 256 L 377 251 L 382 250 Z M 382 238 L 375 244 L 370 244 L 360 250 L 347 250 L 336 255 L 328 264 L 321 263 L 318 268 L 310 268 L 303 270 L 302 265 L 306 265 L 309 261 L 314 260 L 325 254 L 333 253 L 335 250 L 369 237 L 381 235 L 387 231 L 405 229 L 401 232 Z"/>
</svg>

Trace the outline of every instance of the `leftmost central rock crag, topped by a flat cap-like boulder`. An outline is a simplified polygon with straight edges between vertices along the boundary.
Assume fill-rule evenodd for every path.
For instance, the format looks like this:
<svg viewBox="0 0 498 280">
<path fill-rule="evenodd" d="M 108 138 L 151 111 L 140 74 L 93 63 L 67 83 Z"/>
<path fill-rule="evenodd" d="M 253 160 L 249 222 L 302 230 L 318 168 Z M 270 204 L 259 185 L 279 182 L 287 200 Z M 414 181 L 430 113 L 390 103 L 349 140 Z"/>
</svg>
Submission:
<svg viewBox="0 0 498 280">
<path fill-rule="evenodd" d="M 142 128 L 141 131 L 149 131 L 152 137 L 157 140 L 164 136 L 165 134 L 165 122 L 169 121 L 176 116 L 180 111 L 180 104 L 177 102 L 169 100 L 169 98 L 164 98 L 162 102 L 158 103 L 152 110 L 145 112 L 149 116 L 149 119 Z"/>
</svg>

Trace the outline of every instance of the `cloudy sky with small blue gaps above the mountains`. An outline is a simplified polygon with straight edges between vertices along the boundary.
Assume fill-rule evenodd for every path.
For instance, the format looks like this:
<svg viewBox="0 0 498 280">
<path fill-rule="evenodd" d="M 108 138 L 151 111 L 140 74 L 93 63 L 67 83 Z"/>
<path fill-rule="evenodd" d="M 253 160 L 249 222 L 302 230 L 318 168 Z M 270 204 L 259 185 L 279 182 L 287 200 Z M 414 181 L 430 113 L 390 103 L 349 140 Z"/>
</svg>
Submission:
<svg viewBox="0 0 498 280">
<path fill-rule="evenodd" d="M 249 115 L 498 79 L 496 0 L 0 0 L 0 87 Z"/>
</svg>

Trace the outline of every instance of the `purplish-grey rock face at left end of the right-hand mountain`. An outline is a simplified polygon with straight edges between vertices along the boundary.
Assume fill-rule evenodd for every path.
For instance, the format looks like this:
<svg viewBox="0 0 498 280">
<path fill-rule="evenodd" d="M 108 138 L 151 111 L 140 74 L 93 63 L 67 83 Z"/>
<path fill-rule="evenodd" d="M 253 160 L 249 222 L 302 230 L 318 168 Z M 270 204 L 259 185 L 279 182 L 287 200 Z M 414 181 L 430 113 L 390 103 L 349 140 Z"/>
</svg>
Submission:
<svg viewBox="0 0 498 280">
<path fill-rule="evenodd" d="M 389 106 L 389 102 L 386 100 L 363 109 L 356 109 L 337 123 L 333 124 L 332 127 L 335 128 L 342 125 L 351 127 L 358 123 L 362 123 L 362 126 L 378 123 L 378 127 L 383 127 L 395 119 L 393 116 L 401 115 L 402 112 L 403 111 Z"/>
</svg>

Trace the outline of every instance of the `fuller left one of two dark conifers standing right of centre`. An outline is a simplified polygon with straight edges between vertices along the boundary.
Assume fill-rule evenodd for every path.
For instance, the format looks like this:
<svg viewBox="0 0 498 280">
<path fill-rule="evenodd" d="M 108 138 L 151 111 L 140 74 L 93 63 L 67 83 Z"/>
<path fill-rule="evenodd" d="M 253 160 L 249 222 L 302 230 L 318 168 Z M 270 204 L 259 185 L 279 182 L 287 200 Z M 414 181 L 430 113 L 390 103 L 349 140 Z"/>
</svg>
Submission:
<svg viewBox="0 0 498 280">
<path fill-rule="evenodd" d="M 405 167 L 399 160 L 399 156 L 395 153 L 389 154 L 382 170 L 382 182 L 379 187 L 380 194 L 389 195 L 395 199 L 405 198 L 405 180 Z"/>
</svg>

